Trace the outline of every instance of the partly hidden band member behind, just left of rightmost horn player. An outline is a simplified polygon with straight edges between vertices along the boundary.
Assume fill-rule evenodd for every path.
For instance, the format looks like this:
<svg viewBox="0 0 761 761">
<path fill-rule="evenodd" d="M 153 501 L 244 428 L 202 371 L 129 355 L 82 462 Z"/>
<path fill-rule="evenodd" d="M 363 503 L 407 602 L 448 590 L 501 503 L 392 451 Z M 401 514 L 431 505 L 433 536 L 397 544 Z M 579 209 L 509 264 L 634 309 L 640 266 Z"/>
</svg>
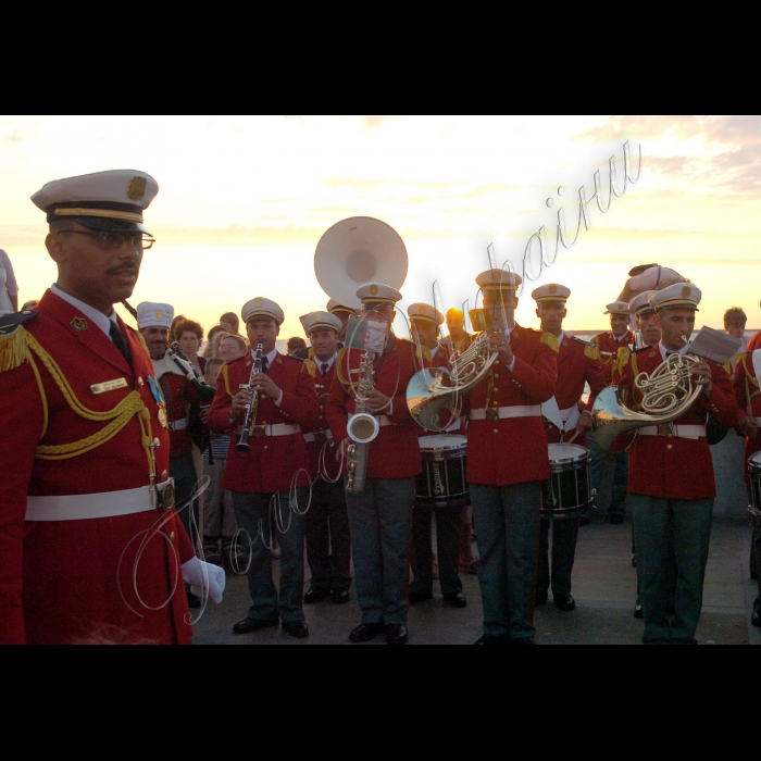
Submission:
<svg viewBox="0 0 761 761">
<path fill-rule="evenodd" d="M 625 301 L 614 301 L 606 308 L 610 314 L 610 332 L 600 333 L 591 339 L 595 345 L 596 359 L 602 370 L 606 383 L 610 384 L 616 366 L 620 350 L 628 350 L 634 341 L 634 334 L 628 329 L 629 305 Z M 595 434 L 587 437 L 587 446 L 591 454 L 591 487 L 599 495 L 606 475 L 606 466 L 613 461 L 613 485 L 608 520 L 612 524 L 623 523 L 626 516 L 626 479 L 628 477 L 628 454 L 624 452 L 607 452 L 597 444 Z M 582 525 L 589 523 L 587 516 L 582 517 Z"/>
</svg>

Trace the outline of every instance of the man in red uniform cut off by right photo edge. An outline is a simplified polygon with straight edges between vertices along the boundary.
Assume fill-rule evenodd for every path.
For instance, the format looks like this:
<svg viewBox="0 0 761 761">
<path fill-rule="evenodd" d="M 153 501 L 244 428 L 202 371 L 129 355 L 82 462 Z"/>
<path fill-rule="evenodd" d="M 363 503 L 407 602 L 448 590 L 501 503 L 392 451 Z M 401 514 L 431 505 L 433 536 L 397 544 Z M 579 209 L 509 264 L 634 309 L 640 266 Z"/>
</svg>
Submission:
<svg viewBox="0 0 761 761">
<path fill-rule="evenodd" d="M 746 436 L 745 439 L 745 467 L 743 475 L 745 483 L 750 484 L 748 474 L 748 459 L 751 454 L 761 451 L 761 390 L 759 390 L 759 378 L 761 377 L 761 349 L 739 354 L 739 361 L 735 370 L 735 399 L 740 410 L 746 415 L 740 422 L 739 428 Z M 757 497 L 758 499 L 758 497 Z M 752 498 L 748 495 L 748 502 L 752 504 Z M 759 506 L 753 506 L 757 510 Z M 753 515 L 753 534 L 750 539 L 751 577 L 752 565 L 756 566 L 756 582 L 759 594 L 753 600 L 753 612 L 750 623 L 753 626 L 761 626 L 761 578 L 758 570 L 761 567 L 761 515 Z"/>
</svg>

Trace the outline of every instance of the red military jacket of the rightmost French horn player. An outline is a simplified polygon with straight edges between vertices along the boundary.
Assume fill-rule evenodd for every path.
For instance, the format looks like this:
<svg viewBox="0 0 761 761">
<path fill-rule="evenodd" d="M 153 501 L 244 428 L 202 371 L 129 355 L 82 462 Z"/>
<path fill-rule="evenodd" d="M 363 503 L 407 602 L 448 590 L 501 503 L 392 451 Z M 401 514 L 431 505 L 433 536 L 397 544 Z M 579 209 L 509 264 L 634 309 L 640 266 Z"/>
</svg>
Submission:
<svg viewBox="0 0 761 761">
<path fill-rule="evenodd" d="M 619 389 L 623 403 L 641 409 L 643 392 L 634 378 L 651 374 L 663 361 L 660 344 L 633 351 L 622 359 Z M 706 425 L 710 412 L 724 427 L 734 427 L 741 419 L 726 371 L 709 362 L 713 391 L 710 399 L 701 392 L 693 407 L 676 421 L 677 425 Z M 697 439 L 677 436 L 637 436 L 628 449 L 628 490 L 662 499 L 707 499 L 715 497 L 711 449 L 704 436 Z"/>
</svg>

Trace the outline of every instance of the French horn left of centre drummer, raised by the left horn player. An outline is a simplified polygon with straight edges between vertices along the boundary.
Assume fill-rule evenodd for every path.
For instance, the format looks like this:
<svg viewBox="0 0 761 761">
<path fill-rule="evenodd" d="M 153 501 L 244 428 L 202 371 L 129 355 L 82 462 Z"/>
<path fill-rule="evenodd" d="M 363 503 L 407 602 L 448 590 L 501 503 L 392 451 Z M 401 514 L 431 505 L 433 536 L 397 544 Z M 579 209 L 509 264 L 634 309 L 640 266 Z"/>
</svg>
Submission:
<svg viewBox="0 0 761 761">
<path fill-rule="evenodd" d="M 441 410 L 457 414 L 458 398 L 483 380 L 497 357 L 484 330 L 465 351 L 454 352 L 451 370 L 417 371 L 407 386 L 407 407 L 414 421 L 427 431 L 441 431 Z"/>
</svg>

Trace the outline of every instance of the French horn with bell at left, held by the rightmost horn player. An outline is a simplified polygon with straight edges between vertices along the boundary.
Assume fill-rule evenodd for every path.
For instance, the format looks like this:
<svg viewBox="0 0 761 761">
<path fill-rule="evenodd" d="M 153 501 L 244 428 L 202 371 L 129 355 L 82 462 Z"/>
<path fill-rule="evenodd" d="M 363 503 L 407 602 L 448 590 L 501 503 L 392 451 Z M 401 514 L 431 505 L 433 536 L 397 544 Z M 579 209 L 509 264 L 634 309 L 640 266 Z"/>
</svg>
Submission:
<svg viewBox="0 0 761 761">
<path fill-rule="evenodd" d="M 644 394 L 641 412 L 622 403 L 617 386 L 602 389 L 591 413 L 597 442 L 603 449 L 610 449 L 620 434 L 646 425 L 666 425 L 682 417 L 702 390 L 690 377 L 690 371 L 700 362 L 704 360 L 696 354 L 673 353 L 650 375 L 639 373 L 634 384 Z"/>
</svg>

